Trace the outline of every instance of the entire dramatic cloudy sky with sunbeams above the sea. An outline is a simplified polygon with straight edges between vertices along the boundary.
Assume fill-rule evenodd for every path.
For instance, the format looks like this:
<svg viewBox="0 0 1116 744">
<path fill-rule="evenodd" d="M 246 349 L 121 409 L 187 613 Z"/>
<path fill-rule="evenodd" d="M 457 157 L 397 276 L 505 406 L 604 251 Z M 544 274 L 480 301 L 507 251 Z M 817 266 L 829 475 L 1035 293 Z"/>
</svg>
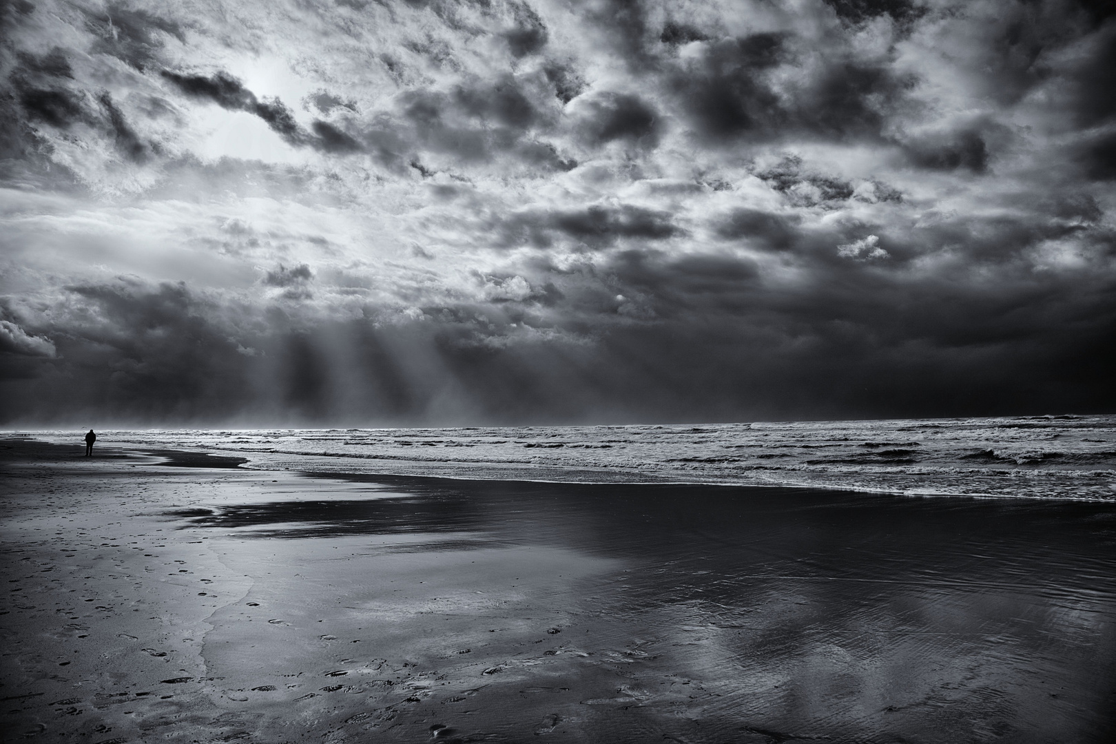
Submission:
<svg viewBox="0 0 1116 744">
<path fill-rule="evenodd" d="M 1112 4 L 10 0 L 0 422 L 1116 410 Z"/>
</svg>

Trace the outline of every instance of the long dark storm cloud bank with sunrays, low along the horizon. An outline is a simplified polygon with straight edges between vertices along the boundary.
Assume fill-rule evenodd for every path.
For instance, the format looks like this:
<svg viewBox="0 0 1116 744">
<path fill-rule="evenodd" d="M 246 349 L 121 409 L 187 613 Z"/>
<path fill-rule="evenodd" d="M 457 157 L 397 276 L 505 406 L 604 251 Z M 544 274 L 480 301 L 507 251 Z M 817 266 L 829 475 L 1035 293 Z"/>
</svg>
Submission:
<svg viewBox="0 0 1116 744">
<path fill-rule="evenodd" d="M 308 273 L 300 269 L 280 269 L 279 283 Z M 365 321 L 256 325 L 182 286 L 74 287 L 97 320 L 50 329 L 60 358 L 41 364 L 78 381 L 49 395 L 44 376 L 9 388 L 45 395 L 40 410 L 52 416 L 95 392 L 119 415 L 201 421 L 227 406 L 300 421 L 452 418 L 430 407 L 445 389 L 456 390 L 470 421 L 972 415 L 1021 395 L 1028 410 L 1096 399 L 1116 331 L 1108 278 L 1038 284 L 1020 271 L 989 292 L 973 280 L 849 273 L 788 293 L 766 288 L 749 260 L 646 250 L 617 253 L 596 272 L 550 277 L 536 299 L 504 301 L 504 310 L 445 306 L 437 325 L 388 327 L 375 322 L 375 308 Z M 566 312 L 556 326 L 519 309 L 532 303 Z M 633 325 L 639 318 L 655 322 Z M 509 321 L 600 336 L 591 346 L 488 344 Z"/>
</svg>

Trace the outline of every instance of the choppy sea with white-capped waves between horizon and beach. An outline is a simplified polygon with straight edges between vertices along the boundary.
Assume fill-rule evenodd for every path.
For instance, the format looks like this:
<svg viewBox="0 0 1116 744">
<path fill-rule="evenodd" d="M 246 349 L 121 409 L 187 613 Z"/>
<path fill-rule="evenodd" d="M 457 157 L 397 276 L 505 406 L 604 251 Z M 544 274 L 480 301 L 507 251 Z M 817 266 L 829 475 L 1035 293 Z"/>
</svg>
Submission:
<svg viewBox="0 0 1116 744">
<path fill-rule="evenodd" d="M 42 431 L 56 443 L 80 432 Z M 1116 501 L 1116 416 L 711 425 L 99 432 L 261 470 L 578 483 L 811 486 Z"/>
</svg>

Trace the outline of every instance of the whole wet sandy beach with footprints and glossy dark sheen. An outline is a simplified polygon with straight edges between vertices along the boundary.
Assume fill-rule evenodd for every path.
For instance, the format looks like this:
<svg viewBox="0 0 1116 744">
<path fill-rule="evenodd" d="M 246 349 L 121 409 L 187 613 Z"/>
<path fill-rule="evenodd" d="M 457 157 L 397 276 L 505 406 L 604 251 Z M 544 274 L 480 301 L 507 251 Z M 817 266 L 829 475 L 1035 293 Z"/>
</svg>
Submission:
<svg viewBox="0 0 1116 744">
<path fill-rule="evenodd" d="M 0 442 L 4 741 L 1114 731 L 1110 504 L 83 452 Z"/>
</svg>

